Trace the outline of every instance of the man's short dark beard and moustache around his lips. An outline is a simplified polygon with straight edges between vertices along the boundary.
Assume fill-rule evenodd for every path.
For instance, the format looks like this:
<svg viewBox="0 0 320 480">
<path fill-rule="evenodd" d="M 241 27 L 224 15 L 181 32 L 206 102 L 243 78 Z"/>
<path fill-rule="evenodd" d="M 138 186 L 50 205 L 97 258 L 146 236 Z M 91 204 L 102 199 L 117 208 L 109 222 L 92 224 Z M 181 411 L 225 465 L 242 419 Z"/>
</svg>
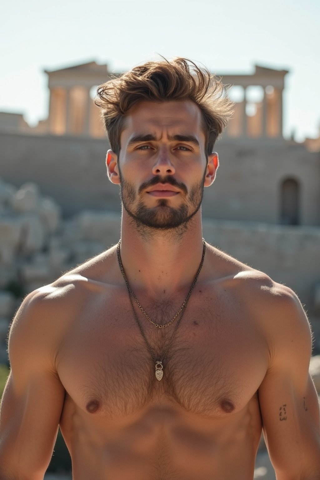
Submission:
<svg viewBox="0 0 320 480">
<path fill-rule="evenodd" d="M 203 198 L 205 172 L 200 182 L 194 184 L 188 192 L 184 183 L 179 183 L 172 176 L 160 177 L 156 175 L 152 180 L 143 183 L 136 193 L 133 185 L 120 177 L 120 196 L 123 208 L 128 215 L 135 221 L 138 228 L 148 227 L 158 230 L 177 229 L 179 227 L 187 227 L 191 218 L 199 211 Z M 132 208 L 139 195 L 148 187 L 157 183 L 168 183 L 177 187 L 182 193 L 185 201 L 177 208 L 169 206 L 169 201 L 165 198 L 158 199 L 155 207 L 147 207 L 140 200 L 135 208 Z"/>
</svg>

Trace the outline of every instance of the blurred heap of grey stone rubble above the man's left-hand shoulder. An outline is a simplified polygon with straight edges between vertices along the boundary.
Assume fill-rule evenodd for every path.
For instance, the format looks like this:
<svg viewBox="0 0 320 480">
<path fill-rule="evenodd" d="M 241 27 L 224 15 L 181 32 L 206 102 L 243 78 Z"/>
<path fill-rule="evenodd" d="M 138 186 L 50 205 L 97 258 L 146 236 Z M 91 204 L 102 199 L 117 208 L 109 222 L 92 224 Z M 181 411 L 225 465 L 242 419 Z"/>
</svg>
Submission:
<svg viewBox="0 0 320 480">
<path fill-rule="evenodd" d="M 59 205 L 34 183 L 19 189 L 0 180 L 0 363 L 24 296 L 119 240 L 116 214 L 83 211 L 64 220 Z"/>
</svg>

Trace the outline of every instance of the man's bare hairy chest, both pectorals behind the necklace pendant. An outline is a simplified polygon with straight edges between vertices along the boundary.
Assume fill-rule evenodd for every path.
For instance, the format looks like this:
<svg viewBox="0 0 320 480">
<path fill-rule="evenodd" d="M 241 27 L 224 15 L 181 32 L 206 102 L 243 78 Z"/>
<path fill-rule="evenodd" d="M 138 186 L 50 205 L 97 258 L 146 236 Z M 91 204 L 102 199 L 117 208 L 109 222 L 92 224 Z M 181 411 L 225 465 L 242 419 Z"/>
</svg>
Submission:
<svg viewBox="0 0 320 480">
<path fill-rule="evenodd" d="M 178 319 L 158 329 L 136 312 L 154 358 L 161 360 Z M 191 299 L 159 382 L 129 302 L 83 308 L 59 353 L 59 377 L 79 408 L 108 418 L 130 415 L 154 401 L 213 417 L 236 412 L 254 396 L 267 368 L 259 329 L 245 317 L 223 303 Z M 170 308 L 157 308 L 153 318 L 165 323 Z"/>
</svg>

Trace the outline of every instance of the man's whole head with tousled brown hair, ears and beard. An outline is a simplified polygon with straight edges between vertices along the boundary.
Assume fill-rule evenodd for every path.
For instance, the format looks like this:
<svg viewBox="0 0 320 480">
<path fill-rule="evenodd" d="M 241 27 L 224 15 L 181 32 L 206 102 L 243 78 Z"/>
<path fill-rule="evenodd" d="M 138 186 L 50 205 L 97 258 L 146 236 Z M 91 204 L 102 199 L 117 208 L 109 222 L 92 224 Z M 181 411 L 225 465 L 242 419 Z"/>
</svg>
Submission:
<svg viewBox="0 0 320 480">
<path fill-rule="evenodd" d="M 192 67 L 192 68 L 191 68 Z M 231 113 L 223 85 L 186 59 L 148 62 L 98 88 L 110 180 L 140 226 L 172 229 L 199 211 Z"/>
</svg>

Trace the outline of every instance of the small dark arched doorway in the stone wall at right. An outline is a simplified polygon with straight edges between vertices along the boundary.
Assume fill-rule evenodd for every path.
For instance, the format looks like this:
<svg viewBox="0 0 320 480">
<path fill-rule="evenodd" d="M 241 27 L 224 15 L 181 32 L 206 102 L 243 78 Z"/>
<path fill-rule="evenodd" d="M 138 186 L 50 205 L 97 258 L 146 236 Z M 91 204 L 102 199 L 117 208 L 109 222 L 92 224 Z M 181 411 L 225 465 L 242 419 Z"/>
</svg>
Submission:
<svg viewBox="0 0 320 480">
<path fill-rule="evenodd" d="M 281 184 L 280 223 L 299 225 L 299 184 L 293 178 L 285 179 Z"/>
</svg>

